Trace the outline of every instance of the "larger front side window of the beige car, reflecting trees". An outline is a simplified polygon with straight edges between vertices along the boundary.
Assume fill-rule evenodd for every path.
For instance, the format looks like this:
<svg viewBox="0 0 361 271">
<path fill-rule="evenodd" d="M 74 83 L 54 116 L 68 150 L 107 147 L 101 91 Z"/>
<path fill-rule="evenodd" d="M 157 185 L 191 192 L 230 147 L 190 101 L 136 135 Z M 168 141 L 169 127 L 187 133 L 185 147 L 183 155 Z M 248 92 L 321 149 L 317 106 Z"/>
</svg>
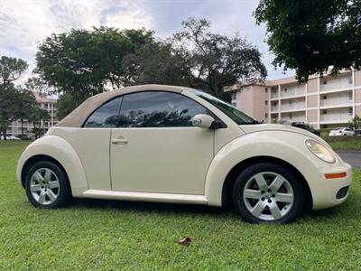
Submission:
<svg viewBox="0 0 361 271">
<path fill-rule="evenodd" d="M 208 110 L 183 95 L 162 91 L 139 92 L 125 95 L 119 126 L 192 126 L 190 120 L 197 114 L 208 114 Z"/>
</svg>

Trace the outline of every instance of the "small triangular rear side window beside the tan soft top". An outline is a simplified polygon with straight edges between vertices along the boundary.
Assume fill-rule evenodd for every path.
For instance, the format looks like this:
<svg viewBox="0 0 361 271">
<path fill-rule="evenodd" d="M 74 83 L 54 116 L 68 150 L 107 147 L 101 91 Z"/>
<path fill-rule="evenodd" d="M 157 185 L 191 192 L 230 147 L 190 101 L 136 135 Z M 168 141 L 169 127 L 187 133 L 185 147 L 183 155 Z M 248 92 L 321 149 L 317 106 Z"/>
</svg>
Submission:
<svg viewBox="0 0 361 271">
<path fill-rule="evenodd" d="M 117 126 L 117 119 L 120 104 L 123 97 L 114 98 L 101 107 L 98 107 L 90 117 L 84 127 L 88 128 L 111 128 Z"/>
</svg>

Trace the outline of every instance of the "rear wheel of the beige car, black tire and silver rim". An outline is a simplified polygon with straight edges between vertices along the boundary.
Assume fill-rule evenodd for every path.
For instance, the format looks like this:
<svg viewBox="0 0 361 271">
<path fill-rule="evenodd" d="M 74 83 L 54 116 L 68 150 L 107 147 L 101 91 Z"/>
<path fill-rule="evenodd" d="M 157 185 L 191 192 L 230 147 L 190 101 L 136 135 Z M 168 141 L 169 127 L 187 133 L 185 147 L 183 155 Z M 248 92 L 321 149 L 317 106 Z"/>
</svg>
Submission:
<svg viewBox="0 0 361 271">
<path fill-rule="evenodd" d="M 32 165 L 25 177 L 25 190 L 34 207 L 61 208 L 71 199 L 66 173 L 58 164 L 40 161 Z"/>
</svg>

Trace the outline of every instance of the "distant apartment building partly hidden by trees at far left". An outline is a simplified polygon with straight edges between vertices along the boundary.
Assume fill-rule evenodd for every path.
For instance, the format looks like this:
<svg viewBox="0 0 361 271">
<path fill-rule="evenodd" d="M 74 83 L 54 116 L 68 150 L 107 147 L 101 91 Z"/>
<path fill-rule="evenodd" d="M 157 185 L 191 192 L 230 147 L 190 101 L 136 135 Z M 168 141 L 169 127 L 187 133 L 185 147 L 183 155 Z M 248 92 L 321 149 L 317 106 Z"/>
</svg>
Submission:
<svg viewBox="0 0 361 271">
<path fill-rule="evenodd" d="M 56 98 L 51 98 L 44 94 L 41 94 L 37 91 L 32 91 L 36 102 L 39 104 L 40 107 L 48 110 L 49 115 L 51 116 L 50 121 L 47 121 L 43 124 L 45 129 L 49 129 L 51 126 L 54 126 L 58 123 L 57 119 L 57 107 L 56 107 Z M 32 135 L 32 123 L 24 120 L 23 122 L 23 135 L 31 136 Z M 12 125 L 7 130 L 7 135 L 22 135 L 22 123 L 20 120 L 15 120 Z"/>
</svg>

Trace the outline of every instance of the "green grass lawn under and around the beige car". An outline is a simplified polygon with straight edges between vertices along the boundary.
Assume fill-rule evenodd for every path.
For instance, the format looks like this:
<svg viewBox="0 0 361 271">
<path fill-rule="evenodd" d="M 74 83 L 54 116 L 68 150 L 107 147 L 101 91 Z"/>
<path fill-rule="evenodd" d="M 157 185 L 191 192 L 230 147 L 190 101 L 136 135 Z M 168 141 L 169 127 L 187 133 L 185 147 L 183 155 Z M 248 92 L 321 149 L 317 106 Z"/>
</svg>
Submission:
<svg viewBox="0 0 361 271">
<path fill-rule="evenodd" d="M 0 143 L 0 270 L 359 269 L 361 171 L 346 203 L 292 225 L 202 206 L 77 200 L 39 210 L 15 180 L 26 143 Z M 177 239 L 190 236 L 189 247 Z"/>
</svg>

